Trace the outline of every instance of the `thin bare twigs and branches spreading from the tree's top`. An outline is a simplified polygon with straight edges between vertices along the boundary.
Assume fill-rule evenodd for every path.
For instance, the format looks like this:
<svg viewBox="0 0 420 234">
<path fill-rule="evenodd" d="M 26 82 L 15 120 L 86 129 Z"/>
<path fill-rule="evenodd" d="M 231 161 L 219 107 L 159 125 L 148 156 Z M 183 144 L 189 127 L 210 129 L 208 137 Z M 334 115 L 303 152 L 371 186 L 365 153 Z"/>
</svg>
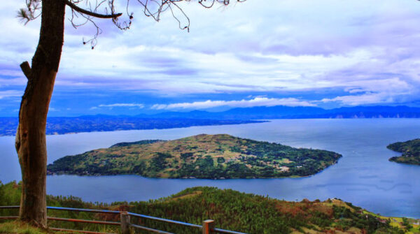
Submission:
<svg viewBox="0 0 420 234">
<path fill-rule="evenodd" d="M 36 19 L 41 15 L 41 1 L 42 0 L 25 0 L 26 8 L 22 8 L 18 11 L 18 17 L 22 23 L 27 24 L 29 21 Z M 55 0 L 60 1 L 60 0 Z M 76 29 L 87 23 L 91 24 L 96 30 L 94 35 L 87 41 L 83 38 L 83 45 L 90 43 L 92 49 L 97 45 L 97 37 L 102 34 L 102 29 L 94 20 L 95 18 L 111 19 L 113 24 L 121 30 L 130 29 L 134 13 L 130 13 L 130 3 L 137 2 L 142 6 L 142 11 L 147 17 L 152 17 L 153 20 L 159 22 L 160 16 L 165 11 L 169 10 L 174 19 L 178 22 L 180 29 L 187 29 L 190 31 L 190 18 L 184 12 L 183 8 L 179 5 L 182 2 L 195 1 L 204 8 L 212 8 L 217 3 L 221 6 L 228 6 L 231 1 L 242 2 L 246 0 L 119 0 L 126 2 L 125 10 L 127 12 L 127 20 L 119 21 L 119 17 L 122 13 L 116 13 L 116 2 L 118 0 L 61 0 L 71 8 L 71 17 L 69 21 L 71 25 Z M 420 1 L 420 0 L 419 0 Z M 104 6 L 108 3 L 108 6 Z M 85 7 L 81 8 L 80 5 L 84 4 Z M 104 10 L 104 14 L 98 13 L 98 11 Z"/>
</svg>

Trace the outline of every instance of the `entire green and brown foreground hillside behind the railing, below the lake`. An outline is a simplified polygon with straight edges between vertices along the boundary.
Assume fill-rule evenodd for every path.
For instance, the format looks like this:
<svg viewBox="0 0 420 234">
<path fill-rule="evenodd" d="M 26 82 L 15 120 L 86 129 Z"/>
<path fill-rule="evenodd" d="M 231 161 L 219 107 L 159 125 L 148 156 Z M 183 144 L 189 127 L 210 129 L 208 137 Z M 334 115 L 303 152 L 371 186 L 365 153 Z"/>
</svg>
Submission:
<svg viewBox="0 0 420 234">
<path fill-rule="evenodd" d="M 21 185 L 0 182 L 0 205 L 18 205 Z M 244 233 L 300 234 L 300 233 L 353 233 L 353 234 L 403 234 L 419 233 L 415 219 L 381 217 L 351 203 L 337 198 L 325 201 L 304 199 L 290 202 L 241 193 L 231 189 L 194 187 L 166 198 L 139 202 L 87 203 L 73 196 L 47 196 L 47 205 L 94 210 L 120 210 L 153 217 L 202 224 L 213 219 L 218 228 Z M 18 210 L 0 210 L 0 216 L 14 216 Z M 95 219 L 118 221 L 118 214 L 95 214 L 48 210 L 49 217 L 70 219 Z M 201 230 L 162 223 L 150 219 L 132 218 L 139 224 L 170 233 L 202 233 Z M 102 233 L 118 233 L 118 226 L 77 224 L 73 222 L 48 221 L 50 227 L 71 228 Z M 0 221 L 0 233 L 41 234 L 27 230 L 27 226 L 16 221 Z"/>
</svg>

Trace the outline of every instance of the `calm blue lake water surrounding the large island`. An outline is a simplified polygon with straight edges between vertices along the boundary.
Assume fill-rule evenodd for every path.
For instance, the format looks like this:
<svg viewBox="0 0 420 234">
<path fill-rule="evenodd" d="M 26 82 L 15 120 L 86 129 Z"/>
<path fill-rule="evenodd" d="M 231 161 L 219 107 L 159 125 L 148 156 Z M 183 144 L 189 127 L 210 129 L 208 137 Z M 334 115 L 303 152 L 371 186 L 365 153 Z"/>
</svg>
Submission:
<svg viewBox="0 0 420 234">
<path fill-rule="evenodd" d="M 389 162 L 399 155 L 391 142 L 420 137 L 420 119 L 276 119 L 261 124 L 195 126 L 184 129 L 113 131 L 48 136 L 48 162 L 117 142 L 172 140 L 200 133 L 228 133 L 241 138 L 279 142 L 293 147 L 328 149 L 339 162 L 311 177 L 253 180 L 151 179 L 137 175 L 48 176 L 52 195 L 89 201 L 149 200 L 188 187 L 211 186 L 284 200 L 340 198 L 387 216 L 420 218 L 420 166 Z M 0 180 L 20 180 L 14 137 L 0 137 Z"/>
</svg>

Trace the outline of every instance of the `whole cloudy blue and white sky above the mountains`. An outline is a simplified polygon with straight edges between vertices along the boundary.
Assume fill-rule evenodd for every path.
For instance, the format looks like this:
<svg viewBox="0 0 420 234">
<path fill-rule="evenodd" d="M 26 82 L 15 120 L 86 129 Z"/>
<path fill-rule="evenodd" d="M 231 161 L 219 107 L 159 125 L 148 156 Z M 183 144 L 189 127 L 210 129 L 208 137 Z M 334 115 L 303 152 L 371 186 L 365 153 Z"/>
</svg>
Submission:
<svg viewBox="0 0 420 234">
<path fill-rule="evenodd" d="M 18 115 L 26 85 L 19 64 L 31 60 L 38 42 L 39 20 L 25 26 L 15 17 L 24 3 L 0 5 L 0 116 Z M 154 22 L 133 4 L 130 30 L 97 20 L 103 33 L 94 50 L 82 43 L 94 29 L 67 21 L 50 116 L 420 105 L 419 1 L 181 6 L 189 33 L 170 12 Z"/>
</svg>

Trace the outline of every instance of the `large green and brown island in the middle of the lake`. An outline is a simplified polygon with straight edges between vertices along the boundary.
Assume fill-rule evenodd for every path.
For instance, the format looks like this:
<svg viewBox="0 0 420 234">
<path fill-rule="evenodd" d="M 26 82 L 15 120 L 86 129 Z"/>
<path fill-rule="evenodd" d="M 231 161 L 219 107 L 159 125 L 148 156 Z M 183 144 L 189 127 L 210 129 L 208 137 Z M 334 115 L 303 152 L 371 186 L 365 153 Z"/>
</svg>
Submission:
<svg viewBox="0 0 420 234">
<path fill-rule="evenodd" d="M 178 140 L 123 142 L 109 148 L 64 156 L 48 165 L 48 174 L 141 175 L 159 178 L 273 178 L 318 173 L 340 154 L 293 148 L 226 134 Z"/>
</svg>

